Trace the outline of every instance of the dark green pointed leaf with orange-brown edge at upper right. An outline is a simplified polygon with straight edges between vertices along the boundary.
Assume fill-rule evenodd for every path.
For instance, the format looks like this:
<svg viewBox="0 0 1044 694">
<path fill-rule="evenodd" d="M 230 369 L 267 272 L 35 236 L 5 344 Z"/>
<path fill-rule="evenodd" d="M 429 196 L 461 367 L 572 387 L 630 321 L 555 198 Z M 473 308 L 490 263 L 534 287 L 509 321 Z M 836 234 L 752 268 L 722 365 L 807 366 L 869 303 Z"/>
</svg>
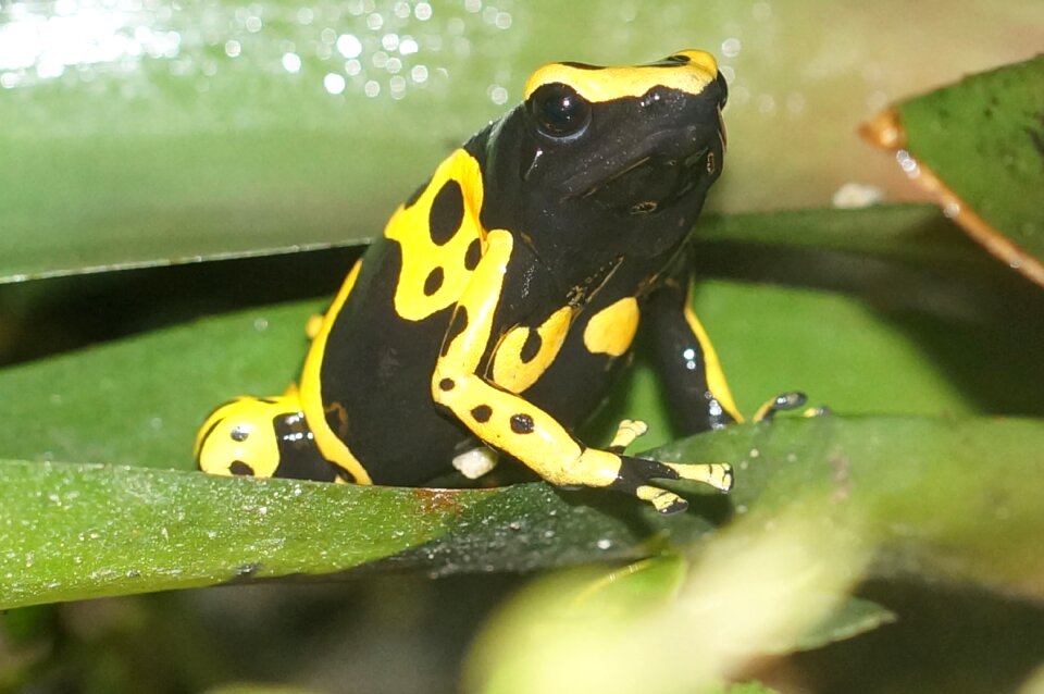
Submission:
<svg viewBox="0 0 1044 694">
<path fill-rule="evenodd" d="M 904 101 L 866 133 L 972 238 L 1044 284 L 1044 57 Z"/>
</svg>

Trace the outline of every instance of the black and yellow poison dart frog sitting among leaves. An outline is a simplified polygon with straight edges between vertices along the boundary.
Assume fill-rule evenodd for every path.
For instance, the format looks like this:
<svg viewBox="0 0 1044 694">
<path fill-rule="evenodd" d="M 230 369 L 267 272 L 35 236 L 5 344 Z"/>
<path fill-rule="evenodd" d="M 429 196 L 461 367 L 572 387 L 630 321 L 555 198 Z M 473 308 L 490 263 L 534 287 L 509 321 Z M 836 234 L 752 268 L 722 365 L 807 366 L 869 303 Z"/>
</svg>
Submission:
<svg viewBox="0 0 1044 694">
<path fill-rule="evenodd" d="M 624 454 L 573 431 L 648 331 L 689 433 L 741 420 L 691 309 L 687 238 L 725 150 L 714 58 L 552 63 L 443 161 L 349 272 L 296 387 L 215 410 L 196 442 L 219 474 L 419 485 L 514 458 L 560 486 L 660 512 L 656 480 L 732 485 L 728 464 Z"/>
</svg>

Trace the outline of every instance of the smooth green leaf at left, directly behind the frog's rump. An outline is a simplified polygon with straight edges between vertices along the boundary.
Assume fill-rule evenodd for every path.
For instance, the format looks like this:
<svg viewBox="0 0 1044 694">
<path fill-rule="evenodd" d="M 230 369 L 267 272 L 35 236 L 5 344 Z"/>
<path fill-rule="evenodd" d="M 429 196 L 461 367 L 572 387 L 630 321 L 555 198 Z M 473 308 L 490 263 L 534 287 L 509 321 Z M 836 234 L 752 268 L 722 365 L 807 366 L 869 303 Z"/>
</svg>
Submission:
<svg viewBox="0 0 1044 694">
<path fill-rule="evenodd" d="M 297 377 L 304 323 L 323 307 L 250 310 L 0 371 L 0 392 L 18 394 L 0 413 L 20 432 L 0 456 L 191 469 L 211 409 Z"/>
</svg>

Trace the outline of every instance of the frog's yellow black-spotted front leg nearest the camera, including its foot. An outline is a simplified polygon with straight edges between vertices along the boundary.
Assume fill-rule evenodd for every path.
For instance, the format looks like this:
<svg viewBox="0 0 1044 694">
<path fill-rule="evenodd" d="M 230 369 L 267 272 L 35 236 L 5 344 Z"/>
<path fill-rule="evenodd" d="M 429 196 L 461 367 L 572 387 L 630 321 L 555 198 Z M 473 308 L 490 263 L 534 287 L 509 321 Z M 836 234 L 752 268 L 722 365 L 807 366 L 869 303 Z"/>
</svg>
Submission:
<svg viewBox="0 0 1044 694">
<path fill-rule="evenodd" d="M 551 484 L 616 488 L 664 513 L 683 510 L 686 504 L 651 480 L 697 480 L 728 489 L 732 484 L 728 466 L 670 464 L 587 448 L 549 413 L 478 375 L 513 246 L 511 234 L 501 230 L 489 232 L 486 240 L 486 252 L 450 319 L 432 379 L 434 400 L 480 439 L 518 458 Z"/>
</svg>

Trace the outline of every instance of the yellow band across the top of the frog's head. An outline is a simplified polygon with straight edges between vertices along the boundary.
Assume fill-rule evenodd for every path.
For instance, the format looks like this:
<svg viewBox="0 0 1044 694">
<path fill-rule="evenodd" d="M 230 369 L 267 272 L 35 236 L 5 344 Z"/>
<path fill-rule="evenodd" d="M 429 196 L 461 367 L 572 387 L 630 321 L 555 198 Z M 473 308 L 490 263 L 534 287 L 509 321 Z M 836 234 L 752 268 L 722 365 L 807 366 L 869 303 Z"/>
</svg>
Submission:
<svg viewBox="0 0 1044 694">
<path fill-rule="evenodd" d="M 647 65 L 599 67 L 581 63 L 550 63 L 525 83 L 524 98 L 542 85 L 566 84 L 589 102 L 641 97 L 654 87 L 700 94 L 718 77 L 718 61 L 706 51 L 683 50 Z"/>
</svg>

